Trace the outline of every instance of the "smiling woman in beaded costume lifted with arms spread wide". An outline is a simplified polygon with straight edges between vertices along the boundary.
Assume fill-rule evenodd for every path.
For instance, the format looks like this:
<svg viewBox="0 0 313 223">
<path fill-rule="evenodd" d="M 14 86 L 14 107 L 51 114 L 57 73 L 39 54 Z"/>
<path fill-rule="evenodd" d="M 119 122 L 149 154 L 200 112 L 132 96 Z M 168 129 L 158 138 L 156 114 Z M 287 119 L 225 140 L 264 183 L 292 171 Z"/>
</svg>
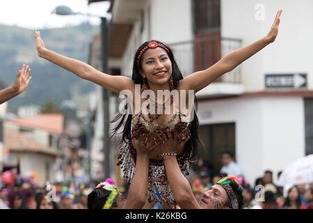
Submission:
<svg viewBox="0 0 313 223">
<path fill-rule="evenodd" d="M 193 108 L 194 98 L 192 97 L 191 100 L 189 100 L 188 93 L 186 92 L 191 90 L 197 93 L 205 86 L 211 84 L 211 82 L 214 82 L 214 80 L 221 75 L 239 66 L 239 64 L 246 61 L 246 59 L 259 52 L 268 44 L 273 43 L 278 35 L 281 13 L 282 10 L 278 10 L 275 22 L 266 36 L 257 40 L 255 43 L 227 54 L 214 64 L 214 66 L 206 70 L 194 72 L 184 79 L 170 47 L 157 40 L 147 41 L 138 48 L 134 56 L 131 79 L 123 76 L 104 74 L 86 63 L 51 52 L 45 47 L 39 31 L 35 32 L 36 48 L 38 56 L 73 72 L 83 79 L 99 84 L 114 93 L 121 93 L 123 90 L 131 92 L 127 97 L 131 107 L 131 114 L 127 114 L 126 105 L 125 111 L 122 111 L 113 120 L 118 121 L 118 119 L 122 117 L 114 133 L 124 126 L 122 141 L 124 141 L 125 144 L 120 149 L 118 164 L 122 164 L 124 177 L 129 183 L 131 183 L 131 179 L 134 176 L 136 164 L 136 150 L 131 144 L 132 138 L 141 138 L 145 142 L 154 140 L 156 144 L 162 144 L 163 141 L 167 139 L 166 131 L 168 130 L 170 132 L 177 132 L 177 140 L 179 141 L 185 141 L 190 137 L 184 145 L 184 148 L 178 153 L 162 154 L 161 150 L 158 149 L 150 153 L 148 198 L 150 201 L 175 203 L 175 197 L 172 194 L 172 190 L 170 190 L 170 185 L 166 178 L 162 158 L 164 155 L 177 156 L 177 162 L 179 163 L 182 174 L 186 176 L 186 174 L 188 174 L 189 160 L 196 154 L 198 118 L 196 114 L 193 113 L 194 109 L 190 109 L 191 107 Z M 135 92 L 137 91 L 135 84 L 140 84 L 141 93 L 143 94 L 145 94 L 145 92 L 147 93 L 146 90 L 150 90 L 149 95 L 141 95 L 143 97 L 139 95 L 139 97 L 136 98 Z M 174 94 L 173 96 L 167 94 L 168 96 L 166 97 L 165 94 L 165 97 L 161 95 L 161 100 L 159 100 L 158 95 L 158 100 L 155 102 L 154 95 L 157 95 L 158 90 L 177 90 L 178 98 L 174 100 L 174 96 L 176 97 L 177 95 Z M 136 101 L 139 102 L 140 109 L 137 109 Z M 191 105 L 189 105 L 190 101 Z M 186 106 L 184 107 L 182 104 Z M 155 105 L 159 106 L 156 107 Z M 156 112 L 157 108 L 163 107 L 160 105 L 169 105 L 170 112 L 162 114 L 162 109 L 161 112 L 159 112 L 159 110 Z M 179 109 L 177 109 L 178 107 Z M 192 114 L 193 118 L 191 118 Z"/>
</svg>

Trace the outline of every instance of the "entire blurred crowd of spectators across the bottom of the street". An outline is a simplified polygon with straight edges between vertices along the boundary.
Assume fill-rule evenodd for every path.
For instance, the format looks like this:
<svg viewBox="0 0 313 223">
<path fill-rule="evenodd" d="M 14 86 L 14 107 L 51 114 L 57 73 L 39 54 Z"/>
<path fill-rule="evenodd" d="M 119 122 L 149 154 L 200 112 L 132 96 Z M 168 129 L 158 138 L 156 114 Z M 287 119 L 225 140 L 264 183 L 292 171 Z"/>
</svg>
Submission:
<svg viewBox="0 0 313 223">
<path fill-rule="evenodd" d="M 313 182 L 288 188 L 279 187 L 273 182 L 273 172 L 266 170 L 264 175 L 257 177 L 252 184 L 241 174 L 238 164 L 232 158 L 232 153 L 223 153 L 221 160 L 223 167 L 217 174 L 214 174 L 208 162 L 202 158 L 199 158 L 198 162 L 190 168 L 191 174 L 188 176 L 188 182 L 197 201 L 200 201 L 204 192 L 216 185 L 220 178 L 230 176 L 234 174 L 234 171 L 237 171 L 239 174 L 236 179 L 244 190 L 243 207 L 245 209 L 313 209 Z M 48 188 L 47 185 L 40 187 L 38 176 L 34 173 L 20 176 L 15 169 L 1 173 L 0 209 L 103 208 L 111 193 L 108 193 L 107 190 L 103 190 L 106 193 L 102 192 L 102 188 L 99 188 L 101 182 L 90 184 L 56 183 L 54 185 L 55 193 L 53 193 L 51 187 Z M 280 174 L 282 174 L 281 171 L 278 173 L 278 178 Z M 129 192 L 127 181 L 122 180 L 122 185 L 116 188 L 126 199 Z M 260 191 L 261 188 L 262 192 Z M 115 200 L 112 201 L 110 208 L 119 208 Z M 146 201 L 143 208 L 168 207 Z M 175 208 L 179 208 L 179 206 L 177 205 Z"/>
</svg>

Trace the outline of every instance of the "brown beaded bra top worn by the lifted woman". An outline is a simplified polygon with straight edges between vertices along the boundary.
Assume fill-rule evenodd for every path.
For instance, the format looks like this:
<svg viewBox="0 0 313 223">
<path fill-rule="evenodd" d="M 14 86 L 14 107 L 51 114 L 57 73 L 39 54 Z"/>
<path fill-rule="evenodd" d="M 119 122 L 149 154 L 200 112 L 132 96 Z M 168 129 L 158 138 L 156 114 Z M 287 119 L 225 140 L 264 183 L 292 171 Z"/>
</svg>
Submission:
<svg viewBox="0 0 313 223">
<path fill-rule="evenodd" d="M 163 140 L 167 139 L 166 130 L 177 131 L 177 138 L 180 142 L 190 135 L 189 125 L 190 121 L 187 116 L 180 111 L 176 112 L 170 121 L 163 125 L 151 123 L 139 112 L 131 119 L 131 134 L 132 137 L 141 137 L 145 143 L 153 139 L 155 143 L 160 144 L 159 137 Z"/>
</svg>

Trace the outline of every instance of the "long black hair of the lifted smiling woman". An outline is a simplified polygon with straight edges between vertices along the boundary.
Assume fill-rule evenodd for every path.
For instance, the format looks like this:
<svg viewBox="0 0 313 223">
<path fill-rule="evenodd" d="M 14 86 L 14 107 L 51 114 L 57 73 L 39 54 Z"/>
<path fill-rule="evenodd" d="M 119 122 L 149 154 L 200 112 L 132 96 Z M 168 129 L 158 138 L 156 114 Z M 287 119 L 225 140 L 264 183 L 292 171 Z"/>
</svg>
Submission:
<svg viewBox="0 0 313 223">
<path fill-rule="evenodd" d="M 179 84 L 179 80 L 184 79 L 184 77 L 182 76 L 182 72 L 180 72 L 179 67 L 174 59 L 174 54 L 172 53 L 172 49 L 170 49 L 170 47 L 168 47 L 166 44 L 161 43 L 158 40 L 151 40 L 151 41 L 147 41 L 145 43 L 143 43 L 136 51 L 135 55 L 134 55 L 134 63 L 133 63 L 133 73 L 131 75 L 131 79 L 133 80 L 134 84 L 143 84 L 144 83 L 144 79 L 140 74 L 140 70 L 142 69 L 141 66 L 141 60 L 143 58 L 143 53 L 139 59 L 139 66 L 137 65 L 137 61 L 138 61 L 138 55 L 141 53 L 141 50 L 143 50 L 143 48 L 147 47 L 147 45 L 150 42 L 156 42 L 159 43 L 163 46 L 165 46 L 166 48 L 168 48 L 168 51 L 166 51 L 168 53 L 168 57 L 170 58 L 170 61 L 172 63 L 172 79 L 173 79 L 173 84 L 174 84 L 174 89 L 177 88 L 178 84 Z M 198 137 L 198 127 L 199 127 L 199 121 L 198 121 L 198 116 L 196 114 L 196 111 L 198 109 L 198 102 L 197 102 L 197 98 L 194 99 L 195 102 L 195 108 L 192 111 L 193 112 L 193 120 L 191 121 L 191 125 L 189 125 L 189 130 L 191 132 L 191 136 L 190 139 L 186 142 L 185 146 L 184 146 L 184 155 L 186 155 L 189 159 L 189 157 L 193 158 L 196 157 L 197 153 L 198 153 L 198 142 L 200 143 L 199 137 Z M 113 120 L 111 121 L 111 123 L 114 123 L 115 121 L 118 121 L 121 117 L 121 121 L 120 123 L 118 123 L 118 126 L 116 128 L 113 129 L 113 135 L 116 134 L 118 132 L 118 130 L 122 127 L 122 125 L 124 125 L 124 129 L 122 130 L 122 140 L 120 141 L 120 144 L 122 144 L 122 142 L 126 142 L 127 139 L 130 141 L 131 140 L 131 118 L 132 115 L 131 114 L 127 114 L 127 103 L 124 106 L 124 109 L 122 110 L 122 112 L 120 112 L 117 116 L 115 116 L 115 118 L 113 118 Z M 125 121 L 125 118 L 126 121 Z M 124 124 L 125 122 L 125 124 Z M 112 135 L 112 137 L 113 137 Z"/>
</svg>

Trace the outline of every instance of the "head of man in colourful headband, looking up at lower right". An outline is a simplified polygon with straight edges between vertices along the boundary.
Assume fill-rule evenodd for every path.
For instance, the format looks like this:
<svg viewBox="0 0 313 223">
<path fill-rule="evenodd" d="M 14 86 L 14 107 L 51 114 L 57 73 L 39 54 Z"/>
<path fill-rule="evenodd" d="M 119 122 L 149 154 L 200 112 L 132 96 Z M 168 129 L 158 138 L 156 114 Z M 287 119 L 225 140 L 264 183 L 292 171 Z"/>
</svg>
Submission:
<svg viewBox="0 0 313 223">
<path fill-rule="evenodd" d="M 199 205 L 202 209 L 241 209 L 243 202 L 243 187 L 229 175 L 204 192 Z"/>
</svg>

